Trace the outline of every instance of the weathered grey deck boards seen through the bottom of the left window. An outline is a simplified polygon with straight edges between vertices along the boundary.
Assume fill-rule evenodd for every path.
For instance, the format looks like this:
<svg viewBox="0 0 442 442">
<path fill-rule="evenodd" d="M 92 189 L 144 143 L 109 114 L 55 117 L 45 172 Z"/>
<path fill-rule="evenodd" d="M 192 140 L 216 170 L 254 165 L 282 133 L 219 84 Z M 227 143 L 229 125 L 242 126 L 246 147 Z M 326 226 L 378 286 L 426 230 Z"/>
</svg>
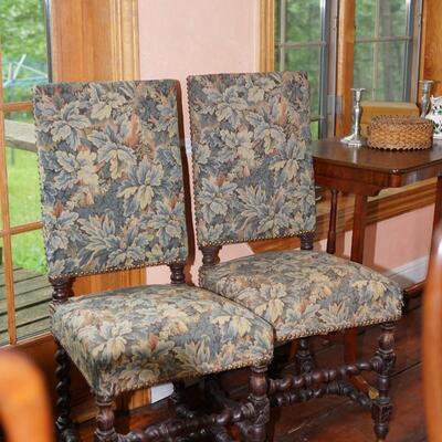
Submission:
<svg viewBox="0 0 442 442">
<path fill-rule="evenodd" d="M 23 339 L 49 329 L 51 286 L 46 275 L 14 269 L 15 320 L 18 337 Z M 8 315 L 4 298 L 4 275 L 0 266 L 0 345 L 8 341 Z"/>
</svg>

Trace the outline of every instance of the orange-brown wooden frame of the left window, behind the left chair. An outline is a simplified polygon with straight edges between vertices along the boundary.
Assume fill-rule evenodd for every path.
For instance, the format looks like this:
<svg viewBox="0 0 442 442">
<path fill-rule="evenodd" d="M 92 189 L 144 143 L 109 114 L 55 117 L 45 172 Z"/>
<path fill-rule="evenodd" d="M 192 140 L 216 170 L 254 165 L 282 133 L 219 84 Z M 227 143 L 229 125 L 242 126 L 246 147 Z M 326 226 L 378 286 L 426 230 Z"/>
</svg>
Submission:
<svg viewBox="0 0 442 442">
<path fill-rule="evenodd" d="M 51 0 L 48 6 L 54 82 L 139 80 L 138 0 Z M 0 103 L 1 140 L 6 137 L 2 115 L 7 112 L 31 109 L 30 102 Z M 3 141 L 1 143 L 6 146 Z M 4 165 L 6 149 L 0 148 L 0 201 L 3 207 L 9 207 Z M 11 227 L 8 211 L 2 211 L 1 215 L 2 245 L 11 269 L 6 274 L 6 280 L 9 287 L 13 287 L 11 235 L 41 229 L 42 224 L 35 221 Z M 77 277 L 74 293 L 81 295 L 145 283 L 146 269 L 136 269 Z M 15 319 L 13 290 L 7 290 L 6 294 L 9 327 L 13 330 Z M 51 392 L 54 393 L 55 344 L 52 335 L 46 333 L 17 341 L 17 335 L 12 332 L 10 340 L 13 346 L 36 361 L 45 375 Z M 90 388 L 75 369 L 72 393 L 74 418 L 83 421 L 93 417 L 94 404 Z M 145 389 L 123 396 L 118 406 L 128 409 L 145 404 L 149 402 L 149 389 Z"/>
</svg>

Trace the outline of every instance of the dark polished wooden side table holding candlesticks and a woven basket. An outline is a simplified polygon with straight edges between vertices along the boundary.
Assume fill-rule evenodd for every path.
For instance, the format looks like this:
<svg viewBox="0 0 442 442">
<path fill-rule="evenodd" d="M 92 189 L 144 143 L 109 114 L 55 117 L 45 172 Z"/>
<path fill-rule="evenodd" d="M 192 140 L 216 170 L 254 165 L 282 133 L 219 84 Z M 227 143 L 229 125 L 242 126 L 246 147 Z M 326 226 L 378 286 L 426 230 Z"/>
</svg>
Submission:
<svg viewBox="0 0 442 442">
<path fill-rule="evenodd" d="M 398 188 L 428 178 L 438 178 L 433 225 L 442 218 L 442 143 L 418 151 L 388 151 L 346 146 L 337 138 L 313 143 L 316 183 L 332 190 L 327 252 L 336 250 L 338 192 L 355 194 L 351 260 L 361 263 L 368 197 L 382 189 Z M 413 287 L 415 290 L 415 287 Z M 345 359 L 357 359 L 356 330 L 346 334 Z"/>
</svg>

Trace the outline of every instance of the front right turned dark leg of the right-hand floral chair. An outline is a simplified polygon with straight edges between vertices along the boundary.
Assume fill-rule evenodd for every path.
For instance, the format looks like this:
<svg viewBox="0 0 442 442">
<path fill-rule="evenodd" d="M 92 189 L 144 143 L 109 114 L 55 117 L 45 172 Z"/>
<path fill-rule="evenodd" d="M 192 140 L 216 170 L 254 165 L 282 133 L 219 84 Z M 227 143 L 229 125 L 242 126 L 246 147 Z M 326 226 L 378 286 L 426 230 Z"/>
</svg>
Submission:
<svg viewBox="0 0 442 442">
<path fill-rule="evenodd" d="M 389 398 L 390 378 L 394 370 L 396 355 L 394 346 L 394 325 L 391 323 L 382 324 L 382 334 L 379 338 L 379 348 L 376 355 L 382 360 L 382 368 L 377 375 L 377 388 L 379 396 L 372 404 L 372 419 L 375 422 L 375 433 L 378 442 L 383 442 L 387 438 L 388 427 L 391 419 L 392 406 Z"/>
</svg>

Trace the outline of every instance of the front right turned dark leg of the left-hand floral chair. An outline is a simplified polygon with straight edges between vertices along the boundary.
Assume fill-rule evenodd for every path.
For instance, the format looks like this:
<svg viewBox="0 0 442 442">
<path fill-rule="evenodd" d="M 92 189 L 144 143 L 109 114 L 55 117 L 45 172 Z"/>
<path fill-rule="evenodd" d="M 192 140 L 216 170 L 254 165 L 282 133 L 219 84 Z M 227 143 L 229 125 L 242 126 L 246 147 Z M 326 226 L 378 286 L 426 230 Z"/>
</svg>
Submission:
<svg viewBox="0 0 442 442">
<path fill-rule="evenodd" d="M 250 377 L 249 399 L 256 410 L 256 417 L 251 423 L 248 432 L 248 442 L 265 442 L 267 440 L 267 427 L 270 422 L 270 400 L 267 396 L 267 367 L 252 367 Z"/>
</svg>

